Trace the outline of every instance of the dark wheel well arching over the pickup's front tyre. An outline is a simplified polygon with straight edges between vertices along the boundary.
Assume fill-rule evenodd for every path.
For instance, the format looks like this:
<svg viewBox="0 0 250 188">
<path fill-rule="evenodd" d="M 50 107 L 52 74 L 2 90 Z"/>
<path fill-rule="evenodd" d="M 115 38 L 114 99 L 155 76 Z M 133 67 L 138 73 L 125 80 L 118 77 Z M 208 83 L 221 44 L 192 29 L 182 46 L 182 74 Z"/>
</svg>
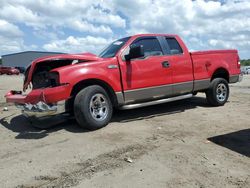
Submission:
<svg viewBox="0 0 250 188">
<path fill-rule="evenodd" d="M 73 87 L 73 89 L 71 91 L 71 97 L 72 97 L 71 99 L 72 99 L 72 101 L 74 101 L 75 96 L 77 95 L 77 93 L 79 91 L 81 91 L 83 88 L 85 88 L 87 86 L 90 86 L 90 85 L 99 85 L 103 89 L 105 89 L 106 92 L 108 93 L 109 97 L 110 97 L 112 105 L 117 106 L 117 104 L 118 104 L 117 98 L 116 98 L 115 92 L 112 89 L 112 87 L 108 83 L 106 83 L 106 82 L 104 82 L 102 80 L 98 80 L 98 79 L 83 80 L 83 81 L 78 82 L 76 85 L 74 85 L 74 87 Z"/>
</svg>

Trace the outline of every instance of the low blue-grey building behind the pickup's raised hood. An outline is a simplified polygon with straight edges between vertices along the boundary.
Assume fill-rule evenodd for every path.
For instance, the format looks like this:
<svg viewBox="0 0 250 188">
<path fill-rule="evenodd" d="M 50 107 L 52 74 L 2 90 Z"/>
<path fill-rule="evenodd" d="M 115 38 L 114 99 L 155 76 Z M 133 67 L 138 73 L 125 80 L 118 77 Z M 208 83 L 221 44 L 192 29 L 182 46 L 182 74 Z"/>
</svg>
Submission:
<svg viewBox="0 0 250 188">
<path fill-rule="evenodd" d="M 59 52 L 39 52 L 39 51 L 25 51 L 20 53 L 2 55 L 2 66 L 5 67 L 20 67 L 26 68 L 30 63 L 43 56 L 62 54 Z"/>
</svg>

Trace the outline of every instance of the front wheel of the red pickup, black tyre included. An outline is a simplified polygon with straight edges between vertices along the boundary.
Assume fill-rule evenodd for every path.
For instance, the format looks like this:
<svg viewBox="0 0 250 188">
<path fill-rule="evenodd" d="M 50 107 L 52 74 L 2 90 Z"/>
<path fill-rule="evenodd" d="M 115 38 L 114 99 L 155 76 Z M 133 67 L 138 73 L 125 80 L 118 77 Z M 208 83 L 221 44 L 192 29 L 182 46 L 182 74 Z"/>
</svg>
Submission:
<svg viewBox="0 0 250 188">
<path fill-rule="evenodd" d="M 113 113 L 107 92 L 98 85 L 82 89 L 74 101 L 76 121 L 83 128 L 96 130 L 106 126 Z"/>
</svg>

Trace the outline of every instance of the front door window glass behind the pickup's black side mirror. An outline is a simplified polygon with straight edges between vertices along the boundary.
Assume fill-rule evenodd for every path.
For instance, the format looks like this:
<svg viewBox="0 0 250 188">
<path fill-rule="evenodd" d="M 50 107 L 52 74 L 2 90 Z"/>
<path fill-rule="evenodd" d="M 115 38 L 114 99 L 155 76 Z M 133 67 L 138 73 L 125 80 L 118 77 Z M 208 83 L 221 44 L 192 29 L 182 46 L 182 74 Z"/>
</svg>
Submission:
<svg viewBox="0 0 250 188">
<path fill-rule="evenodd" d="M 145 57 L 163 55 L 160 43 L 156 38 L 139 39 L 131 45 L 143 46 Z"/>
</svg>

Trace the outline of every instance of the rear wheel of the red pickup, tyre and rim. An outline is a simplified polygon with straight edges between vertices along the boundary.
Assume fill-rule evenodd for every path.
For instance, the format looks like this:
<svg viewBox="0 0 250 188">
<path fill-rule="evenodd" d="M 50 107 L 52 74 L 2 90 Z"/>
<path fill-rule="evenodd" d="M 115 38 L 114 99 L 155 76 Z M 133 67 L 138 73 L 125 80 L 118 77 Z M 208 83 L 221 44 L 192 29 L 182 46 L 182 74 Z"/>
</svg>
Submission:
<svg viewBox="0 0 250 188">
<path fill-rule="evenodd" d="M 215 78 L 206 91 L 206 97 L 212 106 L 223 106 L 229 97 L 228 82 L 224 78 Z"/>
</svg>

